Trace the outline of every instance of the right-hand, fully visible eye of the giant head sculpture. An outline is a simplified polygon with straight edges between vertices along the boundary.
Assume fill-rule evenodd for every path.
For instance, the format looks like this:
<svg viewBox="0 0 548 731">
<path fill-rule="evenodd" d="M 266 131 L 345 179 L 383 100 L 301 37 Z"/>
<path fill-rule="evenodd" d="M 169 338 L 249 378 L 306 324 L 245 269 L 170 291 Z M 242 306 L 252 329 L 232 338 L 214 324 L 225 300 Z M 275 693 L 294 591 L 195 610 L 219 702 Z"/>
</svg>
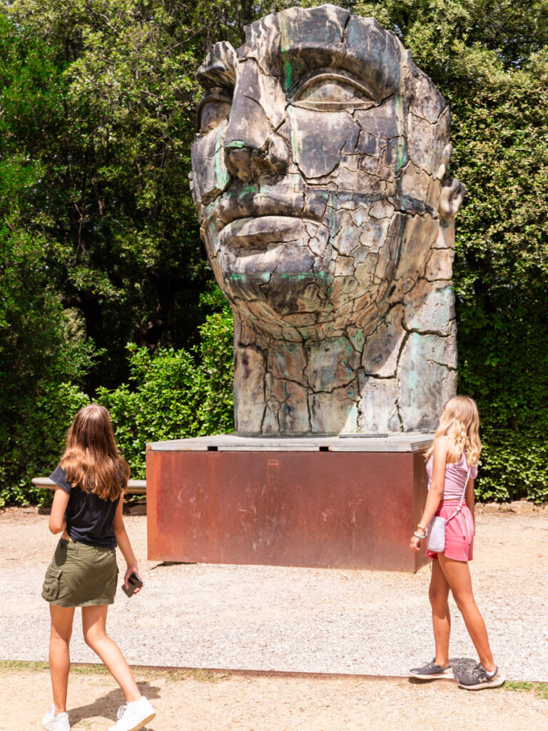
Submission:
<svg viewBox="0 0 548 731">
<path fill-rule="evenodd" d="M 320 72 L 305 78 L 293 95 L 297 107 L 320 112 L 367 109 L 379 102 L 363 83 L 337 72 Z"/>
</svg>

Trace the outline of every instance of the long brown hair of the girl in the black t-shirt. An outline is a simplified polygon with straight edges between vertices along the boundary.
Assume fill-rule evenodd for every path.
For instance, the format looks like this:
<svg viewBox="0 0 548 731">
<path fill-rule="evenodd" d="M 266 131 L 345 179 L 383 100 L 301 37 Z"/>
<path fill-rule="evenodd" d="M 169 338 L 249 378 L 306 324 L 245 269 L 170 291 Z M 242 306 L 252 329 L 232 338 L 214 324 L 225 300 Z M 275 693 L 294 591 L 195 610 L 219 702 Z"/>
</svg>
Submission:
<svg viewBox="0 0 548 731">
<path fill-rule="evenodd" d="M 66 433 L 61 467 L 73 488 L 115 500 L 127 489 L 129 465 L 118 452 L 110 414 L 89 404 L 76 414 Z"/>
</svg>

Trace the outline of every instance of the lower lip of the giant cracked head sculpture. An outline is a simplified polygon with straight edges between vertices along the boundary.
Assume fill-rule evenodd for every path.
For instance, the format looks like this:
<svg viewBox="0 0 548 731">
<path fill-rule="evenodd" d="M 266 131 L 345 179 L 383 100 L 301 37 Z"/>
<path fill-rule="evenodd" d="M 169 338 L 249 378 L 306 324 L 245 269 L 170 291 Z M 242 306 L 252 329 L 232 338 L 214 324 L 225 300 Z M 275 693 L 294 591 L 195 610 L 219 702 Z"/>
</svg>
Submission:
<svg viewBox="0 0 548 731">
<path fill-rule="evenodd" d="M 236 219 L 219 233 L 219 243 L 239 249 L 266 249 L 272 243 L 300 243 L 305 237 L 305 226 L 315 228 L 317 221 L 297 216 L 250 216 Z M 310 235 L 310 234 L 308 234 Z"/>
</svg>

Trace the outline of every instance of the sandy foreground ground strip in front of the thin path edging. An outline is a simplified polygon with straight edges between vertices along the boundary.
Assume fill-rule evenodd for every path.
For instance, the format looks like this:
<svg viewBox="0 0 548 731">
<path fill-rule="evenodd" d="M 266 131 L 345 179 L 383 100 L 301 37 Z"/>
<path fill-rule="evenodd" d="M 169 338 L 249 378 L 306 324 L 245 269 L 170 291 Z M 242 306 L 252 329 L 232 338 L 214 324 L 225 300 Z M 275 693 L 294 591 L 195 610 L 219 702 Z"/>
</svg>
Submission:
<svg viewBox="0 0 548 731">
<path fill-rule="evenodd" d="M 148 731 L 545 731 L 548 700 L 510 686 L 471 693 L 451 681 L 280 678 L 136 670 L 157 716 Z M 544 687 L 544 693 L 547 693 Z M 14 702 L 14 699 L 15 702 Z M 50 703 L 47 670 L 0 664 L 1 731 L 34 731 Z M 121 692 L 109 675 L 72 670 L 75 731 L 107 731 Z"/>
</svg>

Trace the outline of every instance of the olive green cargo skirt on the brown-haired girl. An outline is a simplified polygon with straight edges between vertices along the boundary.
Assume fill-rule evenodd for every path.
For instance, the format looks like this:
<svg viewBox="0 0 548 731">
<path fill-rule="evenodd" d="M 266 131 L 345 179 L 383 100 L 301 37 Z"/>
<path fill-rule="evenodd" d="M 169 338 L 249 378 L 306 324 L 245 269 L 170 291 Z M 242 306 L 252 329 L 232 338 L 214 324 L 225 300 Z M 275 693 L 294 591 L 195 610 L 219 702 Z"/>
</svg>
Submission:
<svg viewBox="0 0 548 731">
<path fill-rule="evenodd" d="M 42 596 L 56 607 L 94 607 L 114 602 L 118 566 L 115 548 L 58 542 L 47 567 Z"/>
</svg>

